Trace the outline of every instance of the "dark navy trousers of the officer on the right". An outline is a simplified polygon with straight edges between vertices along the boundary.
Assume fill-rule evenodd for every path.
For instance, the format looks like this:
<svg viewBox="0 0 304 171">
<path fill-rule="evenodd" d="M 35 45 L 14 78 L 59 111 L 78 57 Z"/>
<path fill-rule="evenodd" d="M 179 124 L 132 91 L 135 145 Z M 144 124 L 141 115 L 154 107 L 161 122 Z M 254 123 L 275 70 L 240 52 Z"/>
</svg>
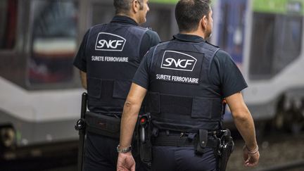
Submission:
<svg viewBox="0 0 304 171">
<path fill-rule="evenodd" d="M 196 155 L 192 146 L 153 146 L 153 171 L 216 171 L 217 158 L 213 148 Z"/>
</svg>

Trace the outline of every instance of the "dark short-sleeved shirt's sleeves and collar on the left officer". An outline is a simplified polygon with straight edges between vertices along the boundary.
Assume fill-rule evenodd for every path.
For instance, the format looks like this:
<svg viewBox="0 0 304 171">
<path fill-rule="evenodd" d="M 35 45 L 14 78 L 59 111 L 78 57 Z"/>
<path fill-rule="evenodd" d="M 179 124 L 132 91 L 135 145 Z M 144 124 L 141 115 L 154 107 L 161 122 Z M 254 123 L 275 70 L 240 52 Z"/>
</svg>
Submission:
<svg viewBox="0 0 304 171">
<path fill-rule="evenodd" d="M 121 16 L 116 15 L 112 20 L 111 23 L 121 23 L 125 25 L 138 25 L 132 18 L 129 18 L 127 16 Z M 75 57 L 74 65 L 82 70 L 83 72 L 87 72 L 87 59 L 85 56 L 85 49 L 87 45 L 87 37 L 88 32 L 84 35 L 84 38 L 82 40 L 82 44 L 80 45 L 80 49 Z M 140 45 L 140 52 L 139 52 L 139 58 L 143 58 L 144 54 L 148 51 L 148 49 L 151 48 L 151 46 L 155 46 L 160 42 L 160 38 L 158 37 L 158 34 L 152 30 L 146 31 L 144 34 L 143 39 L 141 40 Z"/>
</svg>

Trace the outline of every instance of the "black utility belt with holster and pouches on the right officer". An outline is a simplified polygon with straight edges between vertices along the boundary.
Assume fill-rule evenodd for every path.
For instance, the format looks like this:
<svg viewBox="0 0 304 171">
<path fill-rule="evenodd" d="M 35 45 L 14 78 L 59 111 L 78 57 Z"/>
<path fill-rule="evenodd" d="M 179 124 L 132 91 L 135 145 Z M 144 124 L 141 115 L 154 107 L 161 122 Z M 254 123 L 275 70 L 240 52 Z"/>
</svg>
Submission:
<svg viewBox="0 0 304 171">
<path fill-rule="evenodd" d="M 229 129 L 213 132 L 199 129 L 196 133 L 160 130 L 153 127 L 150 113 L 139 117 L 138 128 L 141 160 L 148 165 L 153 160 L 152 146 L 194 146 L 197 155 L 205 153 L 205 148 L 208 147 L 213 148 L 215 156 L 220 159 L 218 169 L 224 171 L 234 149 L 234 141 Z"/>
</svg>

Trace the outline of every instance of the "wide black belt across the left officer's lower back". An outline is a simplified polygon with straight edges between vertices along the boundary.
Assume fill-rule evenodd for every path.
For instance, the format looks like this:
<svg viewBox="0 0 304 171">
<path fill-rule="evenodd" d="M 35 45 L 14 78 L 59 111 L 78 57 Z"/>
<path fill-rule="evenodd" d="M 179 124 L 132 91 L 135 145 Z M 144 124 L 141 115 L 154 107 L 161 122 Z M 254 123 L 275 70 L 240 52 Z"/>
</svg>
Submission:
<svg viewBox="0 0 304 171">
<path fill-rule="evenodd" d="M 115 139 L 120 138 L 120 118 L 87 112 L 85 120 L 87 132 L 93 132 Z"/>
</svg>

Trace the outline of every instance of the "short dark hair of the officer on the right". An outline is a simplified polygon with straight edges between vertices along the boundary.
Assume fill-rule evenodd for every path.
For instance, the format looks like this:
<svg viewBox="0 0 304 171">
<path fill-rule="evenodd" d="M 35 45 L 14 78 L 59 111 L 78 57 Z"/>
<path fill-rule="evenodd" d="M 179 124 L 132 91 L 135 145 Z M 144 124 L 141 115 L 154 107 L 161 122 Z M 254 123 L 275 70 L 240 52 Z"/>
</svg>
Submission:
<svg viewBox="0 0 304 171">
<path fill-rule="evenodd" d="M 175 18 L 179 32 L 194 31 L 204 15 L 208 18 L 210 0 L 179 0 L 175 7 Z"/>
</svg>

